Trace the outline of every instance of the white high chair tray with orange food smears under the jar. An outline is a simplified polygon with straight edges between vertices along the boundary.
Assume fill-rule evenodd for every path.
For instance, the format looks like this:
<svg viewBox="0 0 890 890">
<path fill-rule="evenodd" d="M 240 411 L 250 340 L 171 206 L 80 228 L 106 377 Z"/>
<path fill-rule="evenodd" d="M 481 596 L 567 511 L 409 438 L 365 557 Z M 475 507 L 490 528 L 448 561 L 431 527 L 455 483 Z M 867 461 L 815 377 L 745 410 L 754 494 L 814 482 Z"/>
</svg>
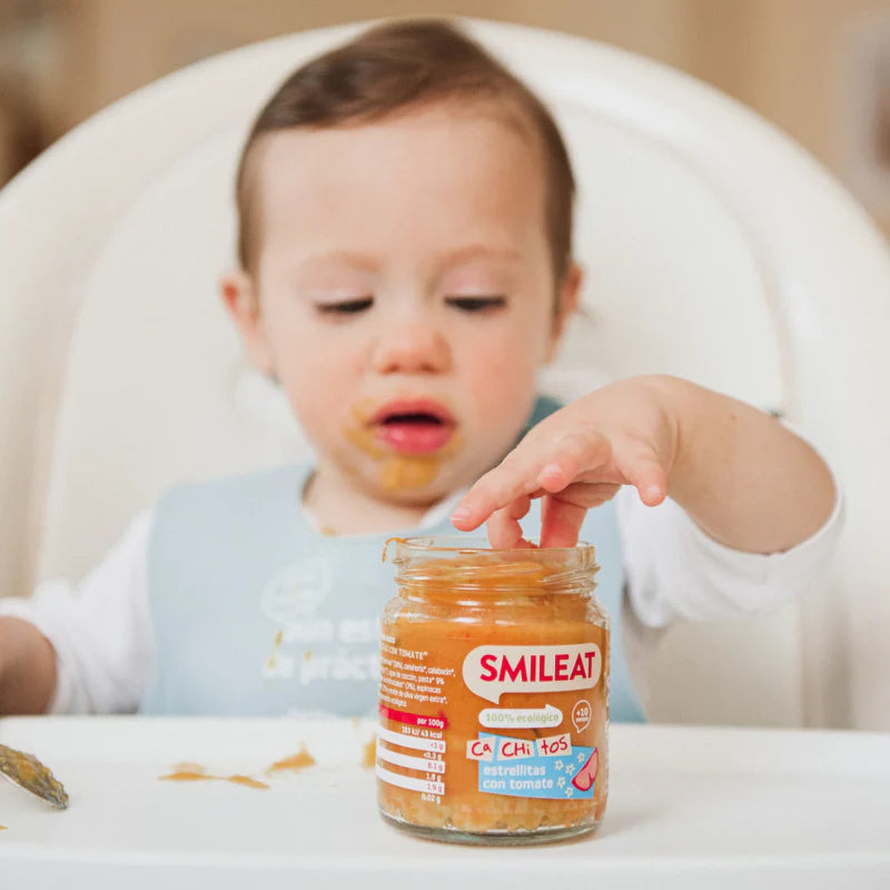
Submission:
<svg viewBox="0 0 890 890">
<path fill-rule="evenodd" d="M 890 735 L 616 725 L 600 833 L 497 849 L 384 824 L 373 771 L 360 765 L 373 729 L 348 720 L 0 720 L 0 741 L 44 760 L 70 794 L 58 812 L 0 787 L 0 887 L 890 887 Z M 276 774 L 267 791 L 158 781 L 180 761 L 261 779 L 300 743 L 318 765 Z"/>
</svg>

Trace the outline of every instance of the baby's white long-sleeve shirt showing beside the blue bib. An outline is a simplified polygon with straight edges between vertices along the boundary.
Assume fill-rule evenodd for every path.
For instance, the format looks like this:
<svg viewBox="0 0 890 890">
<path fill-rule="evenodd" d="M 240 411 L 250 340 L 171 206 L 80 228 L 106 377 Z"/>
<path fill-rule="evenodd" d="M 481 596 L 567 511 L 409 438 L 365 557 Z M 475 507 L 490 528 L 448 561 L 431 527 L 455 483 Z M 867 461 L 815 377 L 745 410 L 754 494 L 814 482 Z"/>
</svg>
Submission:
<svg viewBox="0 0 890 890">
<path fill-rule="evenodd" d="M 635 490 L 616 495 L 627 597 L 624 646 L 642 703 L 643 664 L 656 629 L 678 619 L 706 621 L 772 610 L 824 575 L 843 525 L 835 485 L 831 516 L 789 551 L 745 553 L 709 537 L 674 502 L 645 506 Z M 459 500 L 434 507 L 436 524 Z M 300 510 L 295 503 L 295 510 Z M 115 713 L 139 708 L 154 670 L 148 547 L 154 512 L 139 515 L 82 581 L 48 581 L 30 599 L 0 600 L 0 615 L 32 622 L 57 653 L 52 713 Z"/>
</svg>

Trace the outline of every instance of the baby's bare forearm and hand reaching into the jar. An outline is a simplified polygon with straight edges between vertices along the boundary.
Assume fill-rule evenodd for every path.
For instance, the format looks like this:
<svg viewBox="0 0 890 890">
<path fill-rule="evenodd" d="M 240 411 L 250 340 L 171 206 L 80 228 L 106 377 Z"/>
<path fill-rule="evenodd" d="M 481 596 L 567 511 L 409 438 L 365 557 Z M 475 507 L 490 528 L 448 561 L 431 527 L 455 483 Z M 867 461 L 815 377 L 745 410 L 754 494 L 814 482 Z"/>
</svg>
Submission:
<svg viewBox="0 0 890 890">
<path fill-rule="evenodd" d="M 834 490 L 819 455 L 775 418 L 675 377 L 637 377 L 547 417 L 486 473 L 453 514 L 488 521 L 494 546 L 521 541 L 518 518 L 544 497 L 542 544 L 568 546 L 587 508 L 621 485 L 649 505 L 666 495 L 712 538 L 777 553 L 818 531 Z"/>
</svg>

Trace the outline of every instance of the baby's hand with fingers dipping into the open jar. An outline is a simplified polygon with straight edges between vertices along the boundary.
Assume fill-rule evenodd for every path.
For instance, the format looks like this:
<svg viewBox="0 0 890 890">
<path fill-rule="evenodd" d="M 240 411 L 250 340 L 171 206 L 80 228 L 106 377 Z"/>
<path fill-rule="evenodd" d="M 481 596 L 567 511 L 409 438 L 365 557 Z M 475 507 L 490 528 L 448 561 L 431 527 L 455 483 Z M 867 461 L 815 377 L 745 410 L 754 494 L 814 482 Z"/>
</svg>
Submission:
<svg viewBox="0 0 890 890">
<path fill-rule="evenodd" d="M 531 546 L 518 521 L 542 497 L 541 546 L 568 547 L 587 510 L 621 485 L 660 504 L 678 428 L 665 386 L 656 377 L 622 380 L 555 412 L 473 485 L 452 514 L 454 526 L 468 532 L 487 521 L 493 547 Z"/>
</svg>

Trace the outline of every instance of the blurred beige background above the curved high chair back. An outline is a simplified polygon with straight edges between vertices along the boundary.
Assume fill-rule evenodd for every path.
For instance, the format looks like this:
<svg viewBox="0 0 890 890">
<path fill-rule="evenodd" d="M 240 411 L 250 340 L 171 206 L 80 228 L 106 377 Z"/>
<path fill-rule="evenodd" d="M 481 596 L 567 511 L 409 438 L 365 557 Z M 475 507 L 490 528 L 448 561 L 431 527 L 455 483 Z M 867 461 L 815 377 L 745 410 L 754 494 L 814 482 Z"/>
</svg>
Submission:
<svg viewBox="0 0 890 890">
<path fill-rule="evenodd" d="M 552 28 L 680 68 L 790 134 L 890 235 L 890 0 L 0 0 L 0 184 L 83 118 L 202 57 L 411 13 Z"/>
</svg>

